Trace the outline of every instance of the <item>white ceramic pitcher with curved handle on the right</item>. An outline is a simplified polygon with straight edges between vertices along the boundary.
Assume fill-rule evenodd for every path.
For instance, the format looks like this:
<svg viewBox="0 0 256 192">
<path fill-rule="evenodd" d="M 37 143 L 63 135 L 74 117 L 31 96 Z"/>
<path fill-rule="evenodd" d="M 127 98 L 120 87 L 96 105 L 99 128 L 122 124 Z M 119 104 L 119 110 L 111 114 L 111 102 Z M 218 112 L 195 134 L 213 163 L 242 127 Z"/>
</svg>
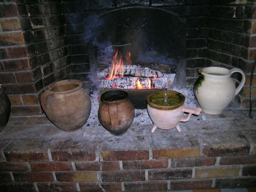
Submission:
<svg viewBox="0 0 256 192">
<path fill-rule="evenodd" d="M 244 72 L 238 68 L 207 67 L 199 71 L 194 93 L 202 110 L 208 114 L 220 114 L 230 104 L 245 83 Z M 242 80 L 236 88 L 231 74 L 240 73 Z"/>
</svg>

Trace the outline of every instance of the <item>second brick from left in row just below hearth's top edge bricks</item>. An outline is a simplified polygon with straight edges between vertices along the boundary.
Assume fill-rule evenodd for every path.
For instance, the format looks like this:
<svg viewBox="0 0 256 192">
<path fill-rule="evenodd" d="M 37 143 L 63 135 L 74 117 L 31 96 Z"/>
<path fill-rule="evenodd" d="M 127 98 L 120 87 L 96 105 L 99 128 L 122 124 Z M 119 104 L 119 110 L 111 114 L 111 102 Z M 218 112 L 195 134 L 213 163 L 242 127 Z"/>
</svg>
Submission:
<svg viewBox="0 0 256 192">
<path fill-rule="evenodd" d="M 71 162 L 30 162 L 32 171 L 70 171 L 73 170 Z"/>
</svg>

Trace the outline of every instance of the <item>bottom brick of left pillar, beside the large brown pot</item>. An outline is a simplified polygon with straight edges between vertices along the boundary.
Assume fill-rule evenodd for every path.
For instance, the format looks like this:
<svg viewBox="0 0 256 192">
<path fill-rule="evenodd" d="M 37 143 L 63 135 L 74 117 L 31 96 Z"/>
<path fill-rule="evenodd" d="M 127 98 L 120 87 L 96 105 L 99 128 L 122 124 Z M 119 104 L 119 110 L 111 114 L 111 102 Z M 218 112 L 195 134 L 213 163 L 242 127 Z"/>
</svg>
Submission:
<svg viewBox="0 0 256 192">
<path fill-rule="evenodd" d="M 40 105 L 37 106 L 12 106 L 11 115 L 42 115 Z"/>
</svg>

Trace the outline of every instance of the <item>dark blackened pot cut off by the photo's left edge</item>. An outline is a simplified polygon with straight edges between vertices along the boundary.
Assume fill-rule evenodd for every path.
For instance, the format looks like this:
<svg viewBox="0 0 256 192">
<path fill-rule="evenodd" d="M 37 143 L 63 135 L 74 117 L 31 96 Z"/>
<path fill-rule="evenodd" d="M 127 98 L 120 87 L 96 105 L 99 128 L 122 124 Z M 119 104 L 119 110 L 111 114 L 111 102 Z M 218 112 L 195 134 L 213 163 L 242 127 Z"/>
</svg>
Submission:
<svg viewBox="0 0 256 192">
<path fill-rule="evenodd" d="M 6 127 L 11 113 L 11 102 L 7 94 L 0 88 L 0 133 Z"/>
</svg>

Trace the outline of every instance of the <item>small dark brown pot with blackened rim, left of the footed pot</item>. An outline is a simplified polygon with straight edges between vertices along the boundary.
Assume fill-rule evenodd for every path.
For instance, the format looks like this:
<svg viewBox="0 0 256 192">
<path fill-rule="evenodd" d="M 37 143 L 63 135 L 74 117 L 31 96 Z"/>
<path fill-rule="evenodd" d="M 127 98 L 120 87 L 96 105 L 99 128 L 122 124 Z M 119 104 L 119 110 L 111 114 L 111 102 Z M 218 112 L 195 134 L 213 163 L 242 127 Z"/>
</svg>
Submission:
<svg viewBox="0 0 256 192">
<path fill-rule="evenodd" d="M 134 106 L 128 100 L 128 93 L 122 90 L 105 92 L 98 118 L 102 126 L 113 135 L 125 134 L 134 119 Z"/>
</svg>

